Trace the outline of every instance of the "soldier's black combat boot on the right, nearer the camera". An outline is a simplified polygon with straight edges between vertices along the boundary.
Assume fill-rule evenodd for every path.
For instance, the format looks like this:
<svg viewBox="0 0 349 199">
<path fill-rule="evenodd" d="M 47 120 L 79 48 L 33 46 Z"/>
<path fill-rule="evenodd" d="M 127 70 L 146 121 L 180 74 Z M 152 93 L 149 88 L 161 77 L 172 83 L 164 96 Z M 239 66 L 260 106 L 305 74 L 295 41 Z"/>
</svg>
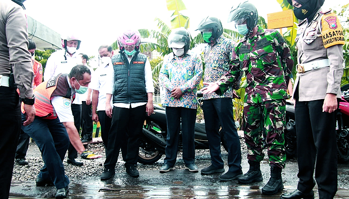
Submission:
<svg viewBox="0 0 349 199">
<path fill-rule="evenodd" d="M 270 167 L 270 179 L 268 183 L 262 188 L 262 194 L 264 195 L 274 195 L 284 189 L 282 184 L 280 167 Z"/>
</svg>

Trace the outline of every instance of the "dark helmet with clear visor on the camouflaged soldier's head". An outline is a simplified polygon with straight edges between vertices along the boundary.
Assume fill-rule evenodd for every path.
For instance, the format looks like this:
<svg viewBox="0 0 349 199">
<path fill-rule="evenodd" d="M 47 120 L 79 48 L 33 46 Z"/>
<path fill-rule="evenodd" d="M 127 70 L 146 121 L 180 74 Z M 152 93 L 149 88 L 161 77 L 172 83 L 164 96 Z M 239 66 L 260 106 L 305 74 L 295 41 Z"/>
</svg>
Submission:
<svg viewBox="0 0 349 199">
<path fill-rule="evenodd" d="M 245 1 L 237 7 L 232 7 L 228 16 L 228 23 L 234 21 L 235 24 L 241 24 L 247 20 L 247 28 L 252 30 L 258 23 L 257 8 L 250 2 Z"/>
</svg>

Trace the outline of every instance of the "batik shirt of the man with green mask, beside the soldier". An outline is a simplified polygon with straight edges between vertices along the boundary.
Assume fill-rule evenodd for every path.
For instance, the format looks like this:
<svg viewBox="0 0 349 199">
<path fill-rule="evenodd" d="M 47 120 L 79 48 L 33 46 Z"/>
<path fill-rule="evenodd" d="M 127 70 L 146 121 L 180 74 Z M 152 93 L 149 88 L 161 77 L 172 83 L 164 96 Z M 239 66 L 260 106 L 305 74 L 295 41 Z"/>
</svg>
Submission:
<svg viewBox="0 0 349 199">
<path fill-rule="evenodd" d="M 233 51 L 234 42 L 231 39 L 220 36 L 216 39 L 215 44 L 211 46 L 208 44 L 205 47 L 205 72 L 204 82 L 216 82 L 224 73 L 229 71 L 229 62 L 231 58 L 231 52 Z M 204 94 L 203 100 L 213 98 L 232 98 L 233 89 L 229 87 L 227 91 L 219 96 L 216 93 Z"/>
</svg>

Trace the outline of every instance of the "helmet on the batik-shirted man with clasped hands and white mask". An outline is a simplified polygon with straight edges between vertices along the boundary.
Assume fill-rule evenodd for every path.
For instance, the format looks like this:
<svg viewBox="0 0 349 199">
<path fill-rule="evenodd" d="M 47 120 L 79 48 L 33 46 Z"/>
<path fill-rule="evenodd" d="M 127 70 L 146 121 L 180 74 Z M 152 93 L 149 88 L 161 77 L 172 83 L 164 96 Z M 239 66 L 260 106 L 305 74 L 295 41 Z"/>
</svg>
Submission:
<svg viewBox="0 0 349 199">
<path fill-rule="evenodd" d="M 186 53 L 189 50 L 190 34 L 189 34 L 189 31 L 183 27 L 172 30 L 168 38 L 169 48 L 179 48 L 179 47 L 175 47 L 175 44 L 178 44 L 178 43 L 183 43 L 184 53 Z"/>
</svg>

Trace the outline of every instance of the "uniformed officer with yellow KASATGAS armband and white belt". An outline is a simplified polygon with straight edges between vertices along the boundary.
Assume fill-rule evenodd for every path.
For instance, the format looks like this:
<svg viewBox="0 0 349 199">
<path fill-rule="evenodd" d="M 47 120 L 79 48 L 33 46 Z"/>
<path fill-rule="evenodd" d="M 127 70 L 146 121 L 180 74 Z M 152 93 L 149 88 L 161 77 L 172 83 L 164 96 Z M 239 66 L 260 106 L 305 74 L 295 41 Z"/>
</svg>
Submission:
<svg viewBox="0 0 349 199">
<path fill-rule="evenodd" d="M 295 16 L 303 20 L 297 30 L 293 89 L 299 182 L 296 191 L 281 199 L 314 199 L 314 169 L 320 199 L 333 199 L 337 192 L 336 109 L 345 42 L 337 15 L 322 10 L 324 1 L 288 0 Z"/>
</svg>

